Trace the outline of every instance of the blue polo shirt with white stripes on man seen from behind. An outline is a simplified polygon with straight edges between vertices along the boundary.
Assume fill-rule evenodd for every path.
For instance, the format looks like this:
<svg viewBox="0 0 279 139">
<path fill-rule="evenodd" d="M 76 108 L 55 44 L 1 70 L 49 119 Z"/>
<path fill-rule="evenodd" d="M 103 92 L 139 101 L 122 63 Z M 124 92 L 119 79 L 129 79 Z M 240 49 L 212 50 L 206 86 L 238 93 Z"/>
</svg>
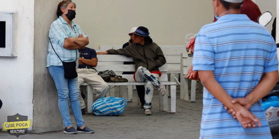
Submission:
<svg viewBox="0 0 279 139">
<path fill-rule="evenodd" d="M 278 70 L 276 45 L 269 31 L 246 15 L 224 15 L 199 31 L 193 70 L 213 71 L 231 97 L 245 97 L 264 73 Z M 200 139 L 272 139 L 261 103 L 261 100 L 255 103 L 250 111 L 259 118 L 262 127 L 244 129 L 204 88 Z"/>
</svg>

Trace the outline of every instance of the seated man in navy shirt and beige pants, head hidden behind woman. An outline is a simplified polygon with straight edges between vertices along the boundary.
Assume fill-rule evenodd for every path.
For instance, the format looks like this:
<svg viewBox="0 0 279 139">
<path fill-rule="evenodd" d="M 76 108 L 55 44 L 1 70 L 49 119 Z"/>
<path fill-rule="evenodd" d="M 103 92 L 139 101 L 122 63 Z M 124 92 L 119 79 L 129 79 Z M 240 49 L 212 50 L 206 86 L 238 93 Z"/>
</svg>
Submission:
<svg viewBox="0 0 279 139">
<path fill-rule="evenodd" d="M 93 101 L 106 96 L 109 90 L 107 83 L 101 76 L 98 75 L 94 67 L 97 66 L 98 59 L 94 49 L 85 47 L 85 49 L 78 49 L 80 53 L 78 61 L 78 86 L 80 87 L 84 82 L 96 89 L 96 97 Z M 93 92 L 92 92 L 93 93 Z M 81 112 L 85 115 L 85 103 L 81 95 L 79 95 Z"/>
</svg>

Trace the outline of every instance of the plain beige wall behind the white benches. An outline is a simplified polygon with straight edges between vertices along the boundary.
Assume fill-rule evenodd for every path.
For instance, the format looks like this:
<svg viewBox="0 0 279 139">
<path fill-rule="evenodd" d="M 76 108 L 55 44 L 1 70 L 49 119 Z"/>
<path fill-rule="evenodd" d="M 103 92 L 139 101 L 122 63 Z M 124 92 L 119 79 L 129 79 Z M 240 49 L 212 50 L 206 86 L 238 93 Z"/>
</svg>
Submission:
<svg viewBox="0 0 279 139">
<path fill-rule="evenodd" d="M 88 47 L 122 45 L 132 27 L 145 26 L 159 45 L 183 45 L 213 20 L 211 0 L 73 0 L 76 19 L 89 36 Z"/>
</svg>

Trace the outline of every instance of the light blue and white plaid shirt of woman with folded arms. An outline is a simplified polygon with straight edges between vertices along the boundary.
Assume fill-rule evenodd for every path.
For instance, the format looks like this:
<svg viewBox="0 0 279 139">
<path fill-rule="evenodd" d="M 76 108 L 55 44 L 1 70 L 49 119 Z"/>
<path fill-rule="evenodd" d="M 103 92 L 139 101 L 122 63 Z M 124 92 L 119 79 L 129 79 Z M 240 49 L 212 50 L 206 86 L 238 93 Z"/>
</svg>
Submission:
<svg viewBox="0 0 279 139">
<path fill-rule="evenodd" d="M 72 27 L 64 20 L 62 16 L 59 16 L 57 20 L 52 22 L 49 30 L 49 37 L 53 48 L 55 49 L 58 56 L 64 62 L 71 62 L 76 60 L 78 67 L 79 52 L 76 50 L 68 50 L 63 47 L 64 40 L 70 37 L 78 37 L 79 34 L 83 34 L 83 37 L 87 37 L 75 22 L 72 21 Z M 76 56 L 77 52 L 77 56 Z M 48 43 L 48 56 L 47 56 L 47 67 L 49 66 L 62 66 L 61 60 L 53 51 L 50 42 Z"/>
</svg>

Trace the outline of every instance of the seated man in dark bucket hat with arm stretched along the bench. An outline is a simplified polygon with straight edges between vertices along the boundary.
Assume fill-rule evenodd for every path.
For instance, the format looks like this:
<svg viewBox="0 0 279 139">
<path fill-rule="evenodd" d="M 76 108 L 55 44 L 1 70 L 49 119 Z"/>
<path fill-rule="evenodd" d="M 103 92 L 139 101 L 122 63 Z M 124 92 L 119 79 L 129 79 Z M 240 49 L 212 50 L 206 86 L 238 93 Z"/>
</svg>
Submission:
<svg viewBox="0 0 279 139">
<path fill-rule="evenodd" d="M 136 72 L 134 79 L 137 82 L 146 82 L 144 96 L 144 113 L 151 115 L 153 86 L 160 90 L 161 95 L 166 94 L 165 86 L 159 82 L 162 73 L 159 67 L 166 63 L 162 49 L 151 39 L 146 27 L 139 26 L 135 32 L 131 33 L 133 43 L 124 49 L 110 49 L 97 54 L 119 54 L 134 59 Z"/>
</svg>

